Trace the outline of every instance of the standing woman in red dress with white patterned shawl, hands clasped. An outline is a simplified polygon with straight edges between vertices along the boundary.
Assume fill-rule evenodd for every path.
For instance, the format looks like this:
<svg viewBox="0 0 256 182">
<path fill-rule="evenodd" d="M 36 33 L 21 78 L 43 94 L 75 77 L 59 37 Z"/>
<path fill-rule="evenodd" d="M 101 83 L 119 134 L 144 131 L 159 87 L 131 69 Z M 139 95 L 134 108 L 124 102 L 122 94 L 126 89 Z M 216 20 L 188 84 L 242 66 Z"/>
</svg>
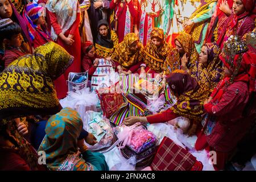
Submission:
<svg viewBox="0 0 256 182">
<path fill-rule="evenodd" d="M 68 91 L 68 73 L 81 72 L 80 7 L 79 2 L 73 0 L 49 0 L 46 7 L 51 21 L 52 39 L 74 56 L 72 65 L 55 80 L 57 97 L 64 98 Z"/>
</svg>

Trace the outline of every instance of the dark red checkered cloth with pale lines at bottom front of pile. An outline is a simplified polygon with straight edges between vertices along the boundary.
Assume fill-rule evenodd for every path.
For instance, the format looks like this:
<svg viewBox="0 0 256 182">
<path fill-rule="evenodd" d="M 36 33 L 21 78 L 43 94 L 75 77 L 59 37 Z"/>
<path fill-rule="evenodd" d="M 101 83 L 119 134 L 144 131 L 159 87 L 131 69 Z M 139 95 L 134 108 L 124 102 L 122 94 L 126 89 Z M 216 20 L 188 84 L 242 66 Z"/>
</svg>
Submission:
<svg viewBox="0 0 256 182">
<path fill-rule="evenodd" d="M 196 162 L 195 156 L 175 144 L 170 138 L 164 137 L 151 168 L 154 171 L 189 171 Z"/>
</svg>

